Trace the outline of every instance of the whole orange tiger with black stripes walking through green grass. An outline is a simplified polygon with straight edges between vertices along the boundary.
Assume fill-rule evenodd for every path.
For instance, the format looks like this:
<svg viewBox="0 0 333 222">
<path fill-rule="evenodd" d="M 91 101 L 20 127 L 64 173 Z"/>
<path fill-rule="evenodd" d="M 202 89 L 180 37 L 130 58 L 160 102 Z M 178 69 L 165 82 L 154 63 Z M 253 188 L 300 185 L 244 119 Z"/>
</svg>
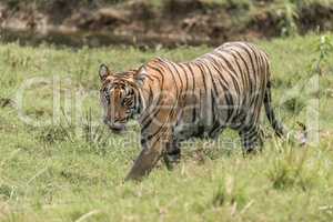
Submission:
<svg viewBox="0 0 333 222">
<path fill-rule="evenodd" d="M 99 75 L 104 123 L 114 132 L 137 115 L 142 151 L 125 180 L 149 174 L 161 157 L 168 168 L 181 155 L 180 143 L 212 138 L 225 128 L 236 130 L 243 151 L 263 144 L 261 108 L 279 137 L 285 129 L 272 108 L 271 72 L 266 53 L 248 42 L 228 42 L 190 62 L 155 58 L 139 69 Z"/>
</svg>

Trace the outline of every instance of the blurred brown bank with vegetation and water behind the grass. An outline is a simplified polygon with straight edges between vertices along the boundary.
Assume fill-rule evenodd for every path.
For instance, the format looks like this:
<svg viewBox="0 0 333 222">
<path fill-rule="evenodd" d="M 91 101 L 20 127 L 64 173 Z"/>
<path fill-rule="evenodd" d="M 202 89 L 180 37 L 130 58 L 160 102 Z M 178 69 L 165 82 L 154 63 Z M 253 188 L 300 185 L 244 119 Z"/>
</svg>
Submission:
<svg viewBox="0 0 333 222">
<path fill-rule="evenodd" d="M 0 27 L 7 40 L 218 46 L 330 31 L 333 0 L 3 0 Z"/>
</svg>

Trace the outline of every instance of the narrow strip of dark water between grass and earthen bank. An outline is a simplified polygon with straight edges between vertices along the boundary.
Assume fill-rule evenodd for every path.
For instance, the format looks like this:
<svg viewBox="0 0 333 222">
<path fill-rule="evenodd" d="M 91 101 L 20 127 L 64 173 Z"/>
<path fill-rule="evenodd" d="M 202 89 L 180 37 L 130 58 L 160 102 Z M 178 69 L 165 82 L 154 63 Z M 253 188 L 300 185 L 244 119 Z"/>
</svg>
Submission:
<svg viewBox="0 0 333 222">
<path fill-rule="evenodd" d="M 34 31 L 13 31 L 8 29 L 0 30 L 0 42 L 18 42 L 22 46 L 39 46 L 51 43 L 54 46 L 81 48 L 83 46 L 97 48 L 105 46 L 135 46 L 142 49 L 168 47 L 174 48 L 182 44 L 213 44 L 212 41 L 170 39 L 150 36 L 115 36 L 108 32 L 75 32 L 65 33 L 50 31 L 41 34 Z"/>
</svg>

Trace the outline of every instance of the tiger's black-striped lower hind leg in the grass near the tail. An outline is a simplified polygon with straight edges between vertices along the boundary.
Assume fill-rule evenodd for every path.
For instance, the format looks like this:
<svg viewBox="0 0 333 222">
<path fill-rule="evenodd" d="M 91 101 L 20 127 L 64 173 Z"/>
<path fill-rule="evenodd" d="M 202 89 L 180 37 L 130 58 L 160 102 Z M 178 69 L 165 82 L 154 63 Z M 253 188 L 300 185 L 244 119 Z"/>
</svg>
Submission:
<svg viewBox="0 0 333 222">
<path fill-rule="evenodd" d="M 242 140 L 243 154 L 258 153 L 262 151 L 263 132 L 259 125 L 243 128 L 240 130 L 239 134 Z"/>
</svg>

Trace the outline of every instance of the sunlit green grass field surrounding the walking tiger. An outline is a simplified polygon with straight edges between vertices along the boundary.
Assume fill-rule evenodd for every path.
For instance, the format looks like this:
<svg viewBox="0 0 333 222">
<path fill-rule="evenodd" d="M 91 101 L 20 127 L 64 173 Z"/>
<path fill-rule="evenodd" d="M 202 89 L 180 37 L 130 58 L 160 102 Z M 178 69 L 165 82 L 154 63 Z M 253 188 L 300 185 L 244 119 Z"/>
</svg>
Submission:
<svg viewBox="0 0 333 222">
<path fill-rule="evenodd" d="M 129 140 L 138 137 L 139 125 L 132 123 L 124 135 L 114 135 L 100 123 L 91 125 L 91 120 L 100 119 L 93 93 L 100 84 L 99 64 L 121 71 L 155 56 L 190 60 L 210 48 L 143 52 L 124 47 L 0 44 L 0 221 L 332 221 L 332 53 L 321 63 L 317 91 L 306 85 L 294 99 L 281 102 L 314 74 L 311 65 L 320 58 L 319 42 L 317 36 L 256 42 L 270 54 L 274 104 L 291 129 L 297 129 L 296 121 L 306 123 L 306 105 L 320 99 L 319 144 L 300 148 L 266 139 L 263 153 L 244 159 L 239 145 L 196 141 L 184 144 L 174 171 L 159 164 L 141 183 L 123 183 L 140 151 L 137 140 Z M 17 91 L 37 77 L 51 83 L 29 88 L 23 111 L 50 119 L 56 82 L 63 112 L 58 111 L 54 124 L 26 124 L 14 108 Z M 80 89 L 92 92 L 84 97 L 81 114 L 74 105 L 83 98 Z M 228 142 L 236 135 L 226 131 L 220 139 Z"/>
</svg>

